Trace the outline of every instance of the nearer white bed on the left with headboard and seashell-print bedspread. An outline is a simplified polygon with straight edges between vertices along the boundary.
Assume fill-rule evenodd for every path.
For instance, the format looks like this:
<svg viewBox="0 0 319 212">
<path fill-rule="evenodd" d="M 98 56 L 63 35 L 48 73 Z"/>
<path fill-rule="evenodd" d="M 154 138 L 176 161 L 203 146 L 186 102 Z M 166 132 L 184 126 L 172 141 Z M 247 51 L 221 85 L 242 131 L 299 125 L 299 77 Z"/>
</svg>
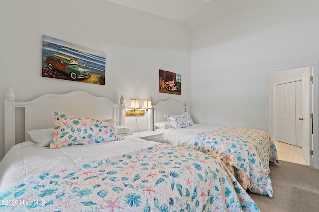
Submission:
<svg viewBox="0 0 319 212">
<path fill-rule="evenodd" d="M 1 211 L 259 211 L 222 163 L 195 150 L 131 135 L 89 144 L 79 140 L 60 148 L 51 145 L 57 137 L 71 135 L 57 132 L 74 127 L 76 134 L 72 136 L 87 133 L 82 131 L 87 123 L 79 124 L 84 119 L 78 117 L 93 117 L 90 120 L 98 122 L 117 119 L 124 125 L 123 98 L 114 104 L 107 98 L 75 91 L 18 103 L 9 90 L 5 105 Z M 19 144 L 14 141 L 15 107 L 25 107 L 26 141 Z M 54 113 L 55 124 L 52 112 L 63 113 Z M 57 125 L 61 120 L 63 124 Z M 50 143 L 31 141 L 27 133 L 38 129 L 52 133 L 46 129 L 53 127 Z M 115 134 L 106 131 L 106 137 Z"/>
</svg>

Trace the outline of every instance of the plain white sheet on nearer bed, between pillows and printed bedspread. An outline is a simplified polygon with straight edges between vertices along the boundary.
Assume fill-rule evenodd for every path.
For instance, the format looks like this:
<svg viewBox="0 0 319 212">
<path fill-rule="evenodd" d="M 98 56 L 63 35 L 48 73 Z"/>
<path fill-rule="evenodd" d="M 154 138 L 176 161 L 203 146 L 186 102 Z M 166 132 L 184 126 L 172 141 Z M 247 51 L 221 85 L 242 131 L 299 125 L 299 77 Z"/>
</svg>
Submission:
<svg viewBox="0 0 319 212">
<path fill-rule="evenodd" d="M 59 149 L 36 148 L 36 143 L 33 141 L 17 144 L 8 151 L 0 163 L 0 191 L 24 178 L 30 178 L 48 170 L 82 165 L 159 144 L 134 136 L 123 138 L 123 140 L 109 143 L 74 145 Z"/>
</svg>

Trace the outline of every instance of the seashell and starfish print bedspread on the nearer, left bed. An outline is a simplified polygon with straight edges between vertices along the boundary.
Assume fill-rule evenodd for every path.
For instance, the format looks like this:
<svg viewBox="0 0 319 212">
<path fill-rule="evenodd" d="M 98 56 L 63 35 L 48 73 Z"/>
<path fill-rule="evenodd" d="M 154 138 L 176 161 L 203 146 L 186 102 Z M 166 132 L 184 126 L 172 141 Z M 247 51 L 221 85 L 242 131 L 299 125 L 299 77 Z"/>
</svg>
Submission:
<svg viewBox="0 0 319 212">
<path fill-rule="evenodd" d="M 0 194 L 0 211 L 259 211 L 215 158 L 169 144 L 48 171 Z"/>
</svg>

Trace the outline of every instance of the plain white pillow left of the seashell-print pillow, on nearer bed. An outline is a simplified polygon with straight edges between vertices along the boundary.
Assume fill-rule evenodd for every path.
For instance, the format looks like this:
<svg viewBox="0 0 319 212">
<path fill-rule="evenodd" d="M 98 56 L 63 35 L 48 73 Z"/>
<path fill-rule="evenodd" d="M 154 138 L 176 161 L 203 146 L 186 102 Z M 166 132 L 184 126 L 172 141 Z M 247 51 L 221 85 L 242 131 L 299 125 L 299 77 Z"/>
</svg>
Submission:
<svg viewBox="0 0 319 212">
<path fill-rule="evenodd" d="M 31 139 L 36 142 L 36 147 L 50 146 L 50 142 L 54 137 L 54 128 L 29 130 Z"/>
</svg>

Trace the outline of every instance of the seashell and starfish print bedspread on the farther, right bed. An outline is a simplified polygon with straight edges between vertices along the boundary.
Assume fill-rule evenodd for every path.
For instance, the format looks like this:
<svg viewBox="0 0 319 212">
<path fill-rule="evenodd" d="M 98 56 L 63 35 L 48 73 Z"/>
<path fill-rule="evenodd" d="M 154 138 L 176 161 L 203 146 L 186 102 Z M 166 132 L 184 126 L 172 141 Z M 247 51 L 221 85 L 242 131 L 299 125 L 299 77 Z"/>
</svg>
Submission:
<svg viewBox="0 0 319 212">
<path fill-rule="evenodd" d="M 194 149 L 222 161 L 244 189 L 273 196 L 269 163 L 278 163 L 269 134 L 251 128 L 220 127 L 197 135 Z"/>
</svg>

